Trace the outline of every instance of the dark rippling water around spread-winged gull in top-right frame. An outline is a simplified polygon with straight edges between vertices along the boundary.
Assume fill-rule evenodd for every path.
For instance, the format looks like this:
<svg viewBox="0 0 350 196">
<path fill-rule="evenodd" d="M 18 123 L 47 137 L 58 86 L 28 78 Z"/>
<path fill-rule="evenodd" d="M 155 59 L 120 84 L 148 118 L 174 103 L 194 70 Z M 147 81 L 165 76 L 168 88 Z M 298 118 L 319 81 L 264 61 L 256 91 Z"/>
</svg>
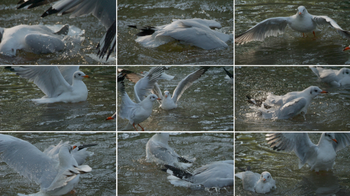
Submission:
<svg viewBox="0 0 350 196">
<path fill-rule="evenodd" d="M 235 1 L 235 36 L 244 33 L 262 20 L 292 16 L 299 6 L 304 6 L 312 15 L 329 16 L 344 30 L 350 30 L 350 3 L 347 1 Z M 343 39 L 328 25 L 317 26 L 321 33 L 302 37 L 302 33 L 289 27 L 285 34 L 269 37 L 265 41 L 252 41 L 235 46 L 235 64 L 242 65 L 343 65 L 350 64 L 350 54 L 343 48 L 350 40 Z"/>
</svg>

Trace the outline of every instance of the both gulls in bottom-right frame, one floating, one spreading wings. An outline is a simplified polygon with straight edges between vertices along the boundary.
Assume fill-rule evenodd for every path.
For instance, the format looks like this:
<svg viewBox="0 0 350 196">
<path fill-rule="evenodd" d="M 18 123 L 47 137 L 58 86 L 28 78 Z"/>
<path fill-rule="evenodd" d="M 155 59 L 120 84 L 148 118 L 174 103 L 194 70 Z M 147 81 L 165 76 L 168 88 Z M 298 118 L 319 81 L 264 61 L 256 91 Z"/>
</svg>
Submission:
<svg viewBox="0 0 350 196">
<path fill-rule="evenodd" d="M 299 169 L 306 163 L 316 173 L 332 169 L 337 152 L 350 145 L 350 133 L 321 133 L 318 144 L 310 140 L 308 133 L 271 133 L 266 136 L 273 150 L 293 151 L 299 158 Z M 242 179 L 245 190 L 266 193 L 276 187 L 268 171 L 264 171 L 259 178 L 259 174 L 249 170 L 235 174 Z"/>
</svg>

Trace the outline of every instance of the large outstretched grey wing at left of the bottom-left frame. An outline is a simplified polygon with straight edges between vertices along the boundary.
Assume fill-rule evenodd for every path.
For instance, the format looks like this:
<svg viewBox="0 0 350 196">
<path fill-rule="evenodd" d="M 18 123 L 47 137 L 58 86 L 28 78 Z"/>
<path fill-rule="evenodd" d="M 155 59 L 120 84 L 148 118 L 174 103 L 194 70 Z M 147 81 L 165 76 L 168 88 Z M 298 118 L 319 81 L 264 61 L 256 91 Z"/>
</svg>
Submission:
<svg viewBox="0 0 350 196">
<path fill-rule="evenodd" d="M 49 187 L 58 174 L 58 161 L 31 143 L 10 135 L 0 134 L 0 158 L 19 175 L 34 180 L 40 188 Z"/>
</svg>

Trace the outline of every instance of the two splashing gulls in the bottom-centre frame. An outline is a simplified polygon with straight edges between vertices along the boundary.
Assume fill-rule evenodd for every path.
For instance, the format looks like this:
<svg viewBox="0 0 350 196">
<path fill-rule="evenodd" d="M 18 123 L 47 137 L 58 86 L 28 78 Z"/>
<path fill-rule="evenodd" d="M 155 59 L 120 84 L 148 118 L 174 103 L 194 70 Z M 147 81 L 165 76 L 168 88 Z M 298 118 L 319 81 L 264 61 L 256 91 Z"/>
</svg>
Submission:
<svg viewBox="0 0 350 196">
<path fill-rule="evenodd" d="M 184 171 L 195 158 L 180 157 L 168 145 L 169 133 L 156 133 L 146 144 L 146 161 L 164 164 L 162 171 L 170 174 L 167 179 L 175 186 L 188 188 L 222 188 L 233 186 L 233 160 L 215 161 L 195 169 Z"/>
</svg>

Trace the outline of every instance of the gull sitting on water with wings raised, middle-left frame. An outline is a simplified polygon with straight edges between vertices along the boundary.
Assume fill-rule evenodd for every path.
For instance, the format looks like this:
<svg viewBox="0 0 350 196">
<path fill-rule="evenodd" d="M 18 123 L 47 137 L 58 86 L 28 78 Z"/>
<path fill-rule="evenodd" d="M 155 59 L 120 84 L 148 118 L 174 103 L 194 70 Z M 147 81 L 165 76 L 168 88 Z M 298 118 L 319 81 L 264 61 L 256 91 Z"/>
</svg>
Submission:
<svg viewBox="0 0 350 196">
<path fill-rule="evenodd" d="M 82 79 L 90 78 L 79 66 L 7 66 L 6 69 L 16 72 L 21 78 L 40 88 L 46 95 L 41 99 L 31 100 L 35 104 L 55 102 L 77 103 L 86 101 L 88 88 Z"/>
</svg>

